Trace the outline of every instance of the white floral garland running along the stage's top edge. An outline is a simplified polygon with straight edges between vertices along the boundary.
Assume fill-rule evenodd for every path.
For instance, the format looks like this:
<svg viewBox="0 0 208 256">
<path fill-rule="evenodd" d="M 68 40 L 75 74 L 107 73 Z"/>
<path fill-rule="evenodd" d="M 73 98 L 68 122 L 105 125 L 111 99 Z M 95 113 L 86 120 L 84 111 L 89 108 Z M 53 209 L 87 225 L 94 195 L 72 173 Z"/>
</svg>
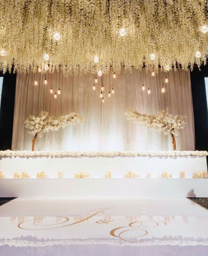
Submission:
<svg viewBox="0 0 208 256">
<path fill-rule="evenodd" d="M 70 156 L 70 157 L 79 157 L 79 156 L 103 156 L 103 157 L 114 157 L 114 156 L 208 156 L 207 151 L 13 151 L 13 150 L 5 150 L 0 151 L 0 157 L 11 157 L 11 156 L 19 156 L 19 157 L 29 157 L 29 156 Z"/>
</svg>

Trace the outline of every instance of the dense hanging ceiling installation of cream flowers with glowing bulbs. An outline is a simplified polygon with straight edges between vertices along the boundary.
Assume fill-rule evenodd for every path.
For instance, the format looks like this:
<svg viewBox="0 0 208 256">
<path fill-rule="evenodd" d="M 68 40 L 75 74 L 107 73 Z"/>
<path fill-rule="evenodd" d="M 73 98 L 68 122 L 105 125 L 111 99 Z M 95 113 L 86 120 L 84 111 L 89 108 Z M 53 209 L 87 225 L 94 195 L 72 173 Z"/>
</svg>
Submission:
<svg viewBox="0 0 208 256">
<path fill-rule="evenodd" d="M 4 0 L 0 69 L 183 69 L 208 54 L 205 0 Z"/>
</svg>

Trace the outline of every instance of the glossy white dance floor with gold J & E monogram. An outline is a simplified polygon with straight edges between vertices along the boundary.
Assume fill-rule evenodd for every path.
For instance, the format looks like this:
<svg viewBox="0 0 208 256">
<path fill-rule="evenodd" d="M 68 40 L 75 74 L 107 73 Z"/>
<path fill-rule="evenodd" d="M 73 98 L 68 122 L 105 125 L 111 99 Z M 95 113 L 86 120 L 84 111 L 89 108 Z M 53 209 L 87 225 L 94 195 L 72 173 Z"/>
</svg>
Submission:
<svg viewBox="0 0 208 256">
<path fill-rule="evenodd" d="M 208 210 L 187 198 L 16 198 L 0 256 L 207 256 Z"/>
</svg>

